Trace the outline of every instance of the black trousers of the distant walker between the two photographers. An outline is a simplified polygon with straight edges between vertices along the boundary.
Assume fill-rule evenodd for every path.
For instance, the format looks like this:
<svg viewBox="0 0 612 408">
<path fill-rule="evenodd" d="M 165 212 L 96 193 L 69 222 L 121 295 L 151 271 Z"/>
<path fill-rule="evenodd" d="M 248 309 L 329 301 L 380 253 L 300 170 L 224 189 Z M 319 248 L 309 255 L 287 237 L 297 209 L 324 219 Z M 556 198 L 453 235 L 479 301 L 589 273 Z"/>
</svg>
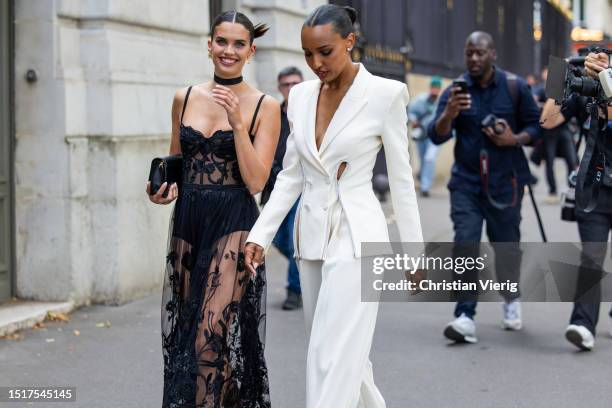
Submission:
<svg viewBox="0 0 612 408">
<path fill-rule="evenodd" d="M 576 147 L 572 139 L 572 133 L 566 126 L 544 131 L 544 150 L 546 154 L 546 180 L 548 181 L 548 192 L 557 193 L 557 183 L 555 181 L 554 164 L 557 153 L 567 164 L 567 174 L 578 166 Z"/>
</svg>

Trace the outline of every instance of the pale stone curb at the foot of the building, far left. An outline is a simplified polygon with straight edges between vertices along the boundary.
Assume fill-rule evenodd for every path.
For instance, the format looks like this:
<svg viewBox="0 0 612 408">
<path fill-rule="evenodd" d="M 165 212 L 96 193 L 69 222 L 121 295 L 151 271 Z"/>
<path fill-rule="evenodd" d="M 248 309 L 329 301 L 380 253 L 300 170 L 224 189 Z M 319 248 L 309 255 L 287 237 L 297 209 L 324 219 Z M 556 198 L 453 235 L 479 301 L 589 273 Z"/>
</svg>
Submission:
<svg viewBox="0 0 612 408">
<path fill-rule="evenodd" d="M 35 302 L 13 300 L 0 305 L 0 337 L 17 330 L 29 329 L 42 322 L 47 313 L 70 313 L 75 309 L 74 302 Z"/>
</svg>

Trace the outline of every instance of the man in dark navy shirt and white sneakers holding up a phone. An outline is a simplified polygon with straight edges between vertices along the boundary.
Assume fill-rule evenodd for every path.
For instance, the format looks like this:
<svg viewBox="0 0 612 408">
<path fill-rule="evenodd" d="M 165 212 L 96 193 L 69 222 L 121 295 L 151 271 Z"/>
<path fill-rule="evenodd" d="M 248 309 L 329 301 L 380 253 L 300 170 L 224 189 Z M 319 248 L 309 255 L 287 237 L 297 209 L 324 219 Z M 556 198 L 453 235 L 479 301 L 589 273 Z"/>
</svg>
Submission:
<svg viewBox="0 0 612 408">
<path fill-rule="evenodd" d="M 456 243 L 476 244 L 483 222 L 491 242 L 511 243 L 496 251 L 496 272 L 505 270 L 518 282 L 520 221 L 524 186 L 531 173 L 521 146 L 540 137 L 539 109 L 527 83 L 495 65 L 493 38 L 474 32 L 465 44 L 467 73 L 440 98 L 428 133 L 436 144 L 457 136 L 455 163 L 448 184 Z M 461 276 L 474 280 L 475 271 Z M 520 293 L 502 293 L 502 326 L 522 327 Z M 476 294 L 459 297 L 455 319 L 444 335 L 456 342 L 475 343 Z"/>
</svg>

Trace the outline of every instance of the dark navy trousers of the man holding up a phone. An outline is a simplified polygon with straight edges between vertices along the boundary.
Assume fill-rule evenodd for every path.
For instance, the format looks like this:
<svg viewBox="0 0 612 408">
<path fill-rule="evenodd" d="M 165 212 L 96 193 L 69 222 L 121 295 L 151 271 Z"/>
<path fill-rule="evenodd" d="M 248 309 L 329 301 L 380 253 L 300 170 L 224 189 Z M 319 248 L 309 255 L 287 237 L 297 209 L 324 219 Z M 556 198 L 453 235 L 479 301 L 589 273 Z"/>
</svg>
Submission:
<svg viewBox="0 0 612 408">
<path fill-rule="evenodd" d="M 511 282 L 519 281 L 521 253 L 518 243 L 521 240 L 521 202 L 523 200 L 523 186 L 517 190 L 517 204 L 503 210 L 491 205 L 487 197 L 482 193 L 474 193 L 452 189 L 451 193 L 451 219 L 455 230 L 455 242 L 459 243 L 478 243 L 481 241 L 483 221 L 486 221 L 486 231 L 489 242 L 516 242 L 517 245 L 504 246 L 503 249 L 496 249 L 495 271 L 498 281 L 510 279 Z M 511 200 L 511 193 L 506 196 L 494 196 L 495 199 L 508 202 Z M 499 251 L 504 253 L 500 254 Z M 510 251 L 510 253 L 506 253 Z M 468 254 L 465 254 L 468 255 Z M 502 256 L 499 256 L 502 255 Z M 478 254 L 469 254 L 478 256 Z M 466 271 L 461 279 L 464 282 L 476 281 L 478 279 L 476 271 Z M 506 301 L 511 301 L 520 296 L 520 292 L 501 293 Z M 465 314 L 470 319 L 476 314 L 475 293 L 461 292 L 460 300 L 455 307 L 455 317 Z"/>
</svg>

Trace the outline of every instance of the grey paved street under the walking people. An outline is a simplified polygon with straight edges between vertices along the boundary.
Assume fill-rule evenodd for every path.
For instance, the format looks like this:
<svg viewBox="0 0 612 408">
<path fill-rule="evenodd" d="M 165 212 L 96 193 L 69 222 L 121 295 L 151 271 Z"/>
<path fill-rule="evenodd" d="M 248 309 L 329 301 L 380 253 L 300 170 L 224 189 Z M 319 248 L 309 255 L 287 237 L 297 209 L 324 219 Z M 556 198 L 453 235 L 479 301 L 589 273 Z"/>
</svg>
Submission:
<svg viewBox="0 0 612 408">
<path fill-rule="evenodd" d="M 542 188 L 541 182 L 540 199 Z M 420 207 L 426 239 L 450 240 L 446 190 L 436 190 Z M 575 224 L 559 221 L 558 206 L 542 205 L 541 210 L 551 241 L 578 240 Z M 528 196 L 523 216 L 524 241 L 539 241 Z M 299 408 L 305 403 L 303 318 L 301 312 L 280 310 L 285 261 L 274 253 L 267 265 L 272 402 L 274 407 Z M 609 407 L 609 307 L 602 306 L 595 350 L 579 353 L 563 337 L 570 304 L 525 304 L 525 329 L 511 333 L 499 329 L 500 305 L 481 304 L 480 342 L 464 346 L 450 345 L 442 336 L 451 304 L 385 303 L 371 355 L 375 379 L 390 408 Z M 160 406 L 159 308 L 158 294 L 121 307 L 87 307 L 73 313 L 69 323 L 46 323 L 23 332 L 21 340 L 2 340 L 0 385 L 76 386 L 77 402 L 69 407 Z"/>
</svg>

